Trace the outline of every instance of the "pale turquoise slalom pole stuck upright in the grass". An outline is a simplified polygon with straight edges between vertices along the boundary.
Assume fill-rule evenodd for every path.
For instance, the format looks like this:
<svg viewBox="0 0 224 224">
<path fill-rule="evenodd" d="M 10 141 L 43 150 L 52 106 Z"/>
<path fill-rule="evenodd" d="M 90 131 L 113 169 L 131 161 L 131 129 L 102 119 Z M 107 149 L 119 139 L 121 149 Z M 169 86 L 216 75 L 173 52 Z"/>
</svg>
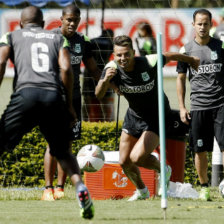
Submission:
<svg viewBox="0 0 224 224">
<path fill-rule="evenodd" d="M 164 210 L 166 219 L 167 192 L 166 192 L 166 141 L 165 141 L 165 116 L 164 116 L 164 93 L 163 93 L 163 56 L 162 34 L 157 34 L 157 75 L 158 75 L 158 98 L 159 98 L 159 137 L 160 137 L 160 184 L 162 186 L 161 208 Z"/>
</svg>

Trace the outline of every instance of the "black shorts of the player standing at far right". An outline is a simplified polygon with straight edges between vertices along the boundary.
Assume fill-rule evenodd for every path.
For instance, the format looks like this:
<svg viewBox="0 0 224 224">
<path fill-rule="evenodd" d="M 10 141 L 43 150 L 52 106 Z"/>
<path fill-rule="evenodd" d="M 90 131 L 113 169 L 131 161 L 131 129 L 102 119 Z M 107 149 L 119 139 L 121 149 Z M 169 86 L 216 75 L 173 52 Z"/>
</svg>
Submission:
<svg viewBox="0 0 224 224">
<path fill-rule="evenodd" d="M 210 110 L 191 111 L 190 149 L 194 152 L 212 151 L 214 136 L 221 151 L 223 151 L 224 106 Z"/>
</svg>

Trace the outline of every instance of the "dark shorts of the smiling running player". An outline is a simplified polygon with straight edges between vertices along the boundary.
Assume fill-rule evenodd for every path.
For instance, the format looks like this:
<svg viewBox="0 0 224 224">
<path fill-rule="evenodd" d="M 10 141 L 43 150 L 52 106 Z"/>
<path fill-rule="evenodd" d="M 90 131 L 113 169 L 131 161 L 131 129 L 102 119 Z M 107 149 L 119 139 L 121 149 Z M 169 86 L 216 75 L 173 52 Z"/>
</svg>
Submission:
<svg viewBox="0 0 224 224">
<path fill-rule="evenodd" d="M 168 114 L 170 114 L 170 111 L 166 113 L 167 116 Z M 148 117 L 148 119 L 143 119 L 128 108 L 124 118 L 122 131 L 135 138 L 140 138 L 144 131 L 152 131 L 159 135 L 158 113 L 150 114 Z M 168 119 L 166 120 L 168 121 Z"/>
</svg>

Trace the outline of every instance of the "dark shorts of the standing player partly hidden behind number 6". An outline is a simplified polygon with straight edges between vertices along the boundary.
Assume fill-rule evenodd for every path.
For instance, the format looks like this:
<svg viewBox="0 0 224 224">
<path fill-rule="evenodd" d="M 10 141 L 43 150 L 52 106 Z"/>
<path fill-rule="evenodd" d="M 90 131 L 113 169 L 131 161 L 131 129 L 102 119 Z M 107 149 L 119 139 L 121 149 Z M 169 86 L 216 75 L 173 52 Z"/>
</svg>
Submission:
<svg viewBox="0 0 224 224">
<path fill-rule="evenodd" d="M 76 112 L 78 122 L 72 127 L 72 134 L 70 140 L 78 140 L 81 138 L 82 131 L 82 114 L 81 114 L 81 95 L 77 98 L 73 98 L 73 108 Z"/>
</svg>

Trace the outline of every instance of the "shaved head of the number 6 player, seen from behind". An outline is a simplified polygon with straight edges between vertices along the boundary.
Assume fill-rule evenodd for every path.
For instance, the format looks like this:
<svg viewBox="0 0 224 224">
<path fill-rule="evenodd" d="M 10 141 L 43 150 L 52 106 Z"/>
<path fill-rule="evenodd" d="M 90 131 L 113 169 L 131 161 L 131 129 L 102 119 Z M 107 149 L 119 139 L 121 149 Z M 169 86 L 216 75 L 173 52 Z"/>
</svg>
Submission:
<svg viewBox="0 0 224 224">
<path fill-rule="evenodd" d="M 43 13 L 36 6 L 28 6 L 21 13 L 20 26 L 24 28 L 27 24 L 38 24 L 44 27 Z"/>
</svg>

